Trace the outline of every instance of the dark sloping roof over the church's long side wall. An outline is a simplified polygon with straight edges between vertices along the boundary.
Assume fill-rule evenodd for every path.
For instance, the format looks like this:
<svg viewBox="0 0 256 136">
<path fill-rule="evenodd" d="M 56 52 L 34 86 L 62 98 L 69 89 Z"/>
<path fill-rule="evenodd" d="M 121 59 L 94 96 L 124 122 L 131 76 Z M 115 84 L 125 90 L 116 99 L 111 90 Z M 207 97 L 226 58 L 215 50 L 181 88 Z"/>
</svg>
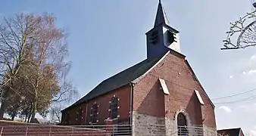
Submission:
<svg viewBox="0 0 256 136">
<path fill-rule="evenodd" d="M 133 80 L 137 79 L 139 76 L 142 76 L 144 73 L 146 73 L 160 59 L 161 57 L 152 60 L 143 60 L 142 62 L 137 63 L 136 65 L 131 66 L 130 68 L 123 70 L 122 72 L 117 73 L 116 75 L 111 76 L 108 79 L 105 79 L 95 88 L 93 88 L 92 91 L 86 94 L 86 96 L 82 97 L 80 100 L 76 101 L 76 103 L 72 104 L 70 107 L 67 107 L 64 110 L 75 107 L 79 104 L 86 102 L 87 100 L 98 97 L 101 94 L 106 94 L 109 91 L 113 91 L 116 88 L 120 88 L 123 85 L 129 84 Z"/>
</svg>

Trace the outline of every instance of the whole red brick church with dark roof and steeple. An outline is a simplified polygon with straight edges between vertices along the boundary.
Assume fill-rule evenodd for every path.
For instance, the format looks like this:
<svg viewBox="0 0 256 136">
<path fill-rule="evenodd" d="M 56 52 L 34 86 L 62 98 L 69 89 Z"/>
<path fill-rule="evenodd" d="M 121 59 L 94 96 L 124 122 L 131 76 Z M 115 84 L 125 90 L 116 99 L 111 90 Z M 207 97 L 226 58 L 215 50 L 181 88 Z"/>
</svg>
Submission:
<svg viewBox="0 0 256 136">
<path fill-rule="evenodd" d="M 161 2 L 154 27 L 146 32 L 147 57 L 105 79 L 62 110 L 61 125 L 132 125 L 133 134 L 147 135 L 143 125 L 200 126 L 216 131 L 214 104 L 180 52 L 179 31 L 170 26 Z M 206 131 L 207 130 L 207 131 Z M 148 134 L 149 135 L 149 134 Z"/>
</svg>

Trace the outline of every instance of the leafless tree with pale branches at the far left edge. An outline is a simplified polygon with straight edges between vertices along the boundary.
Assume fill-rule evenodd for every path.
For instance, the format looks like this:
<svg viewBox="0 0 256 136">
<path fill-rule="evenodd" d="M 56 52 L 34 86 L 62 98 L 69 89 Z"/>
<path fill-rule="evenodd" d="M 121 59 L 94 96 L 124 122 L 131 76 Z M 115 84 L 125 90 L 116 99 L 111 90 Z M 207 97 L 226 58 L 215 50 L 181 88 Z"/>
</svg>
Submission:
<svg viewBox="0 0 256 136">
<path fill-rule="evenodd" d="M 2 79 L 2 104 L 0 108 L 0 118 L 3 117 L 8 100 L 6 100 L 13 91 L 12 82 L 16 80 L 20 66 L 26 63 L 24 60 L 25 48 L 32 44 L 33 23 L 36 23 L 33 17 L 21 14 L 12 19 L 4 19 L 0 25 L 0 76 Z"/>
</svg>

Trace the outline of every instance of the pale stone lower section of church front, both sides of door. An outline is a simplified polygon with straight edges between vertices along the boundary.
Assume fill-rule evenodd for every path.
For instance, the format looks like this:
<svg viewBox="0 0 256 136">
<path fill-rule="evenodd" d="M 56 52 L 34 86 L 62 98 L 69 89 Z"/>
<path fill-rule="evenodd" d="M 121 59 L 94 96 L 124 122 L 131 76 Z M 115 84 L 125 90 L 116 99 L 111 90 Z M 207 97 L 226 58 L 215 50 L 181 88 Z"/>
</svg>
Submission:
<svg viewBox="0 0 256 136">
<path fill-rule="evenodd" d="M 216 128 L 189 124 L 189 136 L 217 136 Z M 133 111 L 133 136 L 178 135 L 176 120 L 147 116 Z"/>
</svg>

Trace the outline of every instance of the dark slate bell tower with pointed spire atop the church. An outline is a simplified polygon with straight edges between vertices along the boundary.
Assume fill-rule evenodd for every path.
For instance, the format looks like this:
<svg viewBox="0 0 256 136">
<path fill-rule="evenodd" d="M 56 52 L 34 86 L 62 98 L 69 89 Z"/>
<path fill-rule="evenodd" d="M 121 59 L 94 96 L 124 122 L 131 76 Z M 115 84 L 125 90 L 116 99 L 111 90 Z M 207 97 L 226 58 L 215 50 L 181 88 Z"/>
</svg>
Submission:
<svg viewBox="0 0 256 136">
<path fill-rule="evenodd" d="M 179 31 L 170 26 L 161 0 L 158 4 L 155 25 L 146 33 L 146 37 L 148 59 L 161 57 L 170 49 L 180 53 Z"/>
</svg>

